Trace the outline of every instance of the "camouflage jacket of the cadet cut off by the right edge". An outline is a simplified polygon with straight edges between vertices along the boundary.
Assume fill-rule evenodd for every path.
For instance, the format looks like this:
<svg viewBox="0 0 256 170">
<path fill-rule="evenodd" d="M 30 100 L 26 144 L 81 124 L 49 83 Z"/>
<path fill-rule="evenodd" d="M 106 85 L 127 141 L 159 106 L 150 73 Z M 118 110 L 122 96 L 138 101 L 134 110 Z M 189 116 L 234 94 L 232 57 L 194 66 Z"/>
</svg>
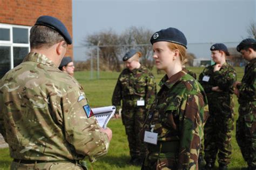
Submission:
<svg viewBox="0 0 256 170">
<path fill-rule="evenodd" d="M 238 85 L 238 90 L 240 104 L 256 101 L 256 58 L 246 65 L 245 74 L 242 77 L 241 84 Z"/>
</svg>

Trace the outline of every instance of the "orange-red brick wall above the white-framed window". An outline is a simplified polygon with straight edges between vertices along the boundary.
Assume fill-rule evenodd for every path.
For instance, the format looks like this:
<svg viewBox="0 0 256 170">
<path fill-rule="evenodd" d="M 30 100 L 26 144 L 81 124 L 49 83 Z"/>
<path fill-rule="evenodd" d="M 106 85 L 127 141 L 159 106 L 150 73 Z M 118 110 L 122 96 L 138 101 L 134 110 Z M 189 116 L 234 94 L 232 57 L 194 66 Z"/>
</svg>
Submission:
<svg viewBox="0 0 256 170">
<path fill-rule="evenodd" d="M 72 37 L 72 0 L 0 0 L 0 23 L 32 26 L 41 15 L 60 19 Z M 66 56 L 73 57 L 72 45 Z"/>
</svg>

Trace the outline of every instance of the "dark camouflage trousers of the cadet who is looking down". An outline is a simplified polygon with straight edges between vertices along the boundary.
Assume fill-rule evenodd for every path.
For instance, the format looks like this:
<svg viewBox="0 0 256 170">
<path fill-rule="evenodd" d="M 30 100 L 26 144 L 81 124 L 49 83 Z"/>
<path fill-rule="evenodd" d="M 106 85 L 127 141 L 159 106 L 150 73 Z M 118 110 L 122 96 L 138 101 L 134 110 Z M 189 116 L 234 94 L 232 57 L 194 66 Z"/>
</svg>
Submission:
<svg viewBox="0 0 256 170">
<path fill-rule="evenodd" d="M 132 158 L 143 159 L 146 155 L 146 144 L 140 140 L 139 136 L 145 117 L 146 110 L 144 107 L 122 108 L 122 121 L 125 126 Z"/>
</svg>

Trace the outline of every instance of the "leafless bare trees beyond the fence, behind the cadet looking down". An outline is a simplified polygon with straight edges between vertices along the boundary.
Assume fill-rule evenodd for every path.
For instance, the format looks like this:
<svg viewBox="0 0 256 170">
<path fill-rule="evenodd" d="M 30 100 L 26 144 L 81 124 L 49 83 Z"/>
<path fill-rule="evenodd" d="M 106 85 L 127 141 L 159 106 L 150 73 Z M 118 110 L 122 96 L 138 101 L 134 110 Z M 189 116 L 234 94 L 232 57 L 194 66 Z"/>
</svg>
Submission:
<svg viewBox="0 0 256 170">
<path fill-rule="evenodd" d="M 137 49 L 142 52 L 143 57 L 141 61 L 143 65 L 152 69 L 153 53 L 152 45 L 150 44 L 152 34 L 151 30 L 135 26 L 126 29 L 120 36 L 110 29 L 85 37 L 82 45 L 92 46 L 86 55 L 93 58 L 93 63 L 96 63 L 94 61 L 97 56 L 97 46 L 99 47 L 100 70 L 120 71 L 122 58 L 130 49 Z M 96 65 L 93 65 L 93 67 L 96 67 Z"/>
</svg>

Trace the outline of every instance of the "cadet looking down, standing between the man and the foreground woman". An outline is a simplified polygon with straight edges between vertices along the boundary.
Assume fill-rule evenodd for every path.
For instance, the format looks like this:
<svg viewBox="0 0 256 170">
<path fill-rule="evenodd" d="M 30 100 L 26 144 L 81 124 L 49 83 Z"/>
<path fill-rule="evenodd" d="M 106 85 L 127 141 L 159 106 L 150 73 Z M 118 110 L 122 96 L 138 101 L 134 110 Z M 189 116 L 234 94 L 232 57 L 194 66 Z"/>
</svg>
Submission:
<svg viewBox="0 0 256 170">
<path fill-rule="evenodd" d="M 146 146 L 139 138 L 139 131 L 157 91 L 154 76 L 139 63 L 140 57 L 142 53 L 134 49 L 125 54 L 123 61 L 127 68 L 120 73 L 112 96 L 112 104 L 117 110 L 122 105 L 122 121 L 132 165 L 141 165 L 146 155 Z"/>
</svg>

